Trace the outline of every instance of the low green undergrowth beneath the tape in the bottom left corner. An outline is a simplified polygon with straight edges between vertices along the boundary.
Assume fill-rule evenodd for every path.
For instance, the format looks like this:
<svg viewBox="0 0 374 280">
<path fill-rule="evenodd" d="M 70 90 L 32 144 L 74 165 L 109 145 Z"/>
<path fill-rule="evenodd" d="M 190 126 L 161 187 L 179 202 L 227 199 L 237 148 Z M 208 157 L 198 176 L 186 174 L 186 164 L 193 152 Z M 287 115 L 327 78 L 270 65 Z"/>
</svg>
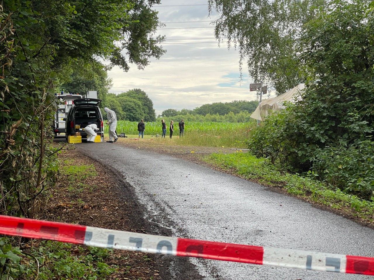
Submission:
<svg viewBox="0 0 374 280">
<path fill-rule="evenodd" d="M 0 238 L 0 280 L 104 279 L 116 270 L 105 263 L 111 250 L 54 241 L 21 251 L 12 238 Z"/>
</svg>

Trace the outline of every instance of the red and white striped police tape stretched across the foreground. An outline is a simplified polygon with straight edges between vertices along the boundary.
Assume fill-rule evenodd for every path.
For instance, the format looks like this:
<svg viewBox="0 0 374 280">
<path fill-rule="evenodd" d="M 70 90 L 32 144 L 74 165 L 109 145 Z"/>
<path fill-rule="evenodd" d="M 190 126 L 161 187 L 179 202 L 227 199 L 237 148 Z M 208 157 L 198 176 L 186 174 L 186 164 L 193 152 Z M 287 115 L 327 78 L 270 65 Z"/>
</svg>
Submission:
<svg viewBox="0 0 374 280">
<path fill-rule="evenodd" d="M 2 215 L 0 234 L 126 251 L 374 275 L 374 258 L 371 257 L 156 236 Z"/>
</svg>

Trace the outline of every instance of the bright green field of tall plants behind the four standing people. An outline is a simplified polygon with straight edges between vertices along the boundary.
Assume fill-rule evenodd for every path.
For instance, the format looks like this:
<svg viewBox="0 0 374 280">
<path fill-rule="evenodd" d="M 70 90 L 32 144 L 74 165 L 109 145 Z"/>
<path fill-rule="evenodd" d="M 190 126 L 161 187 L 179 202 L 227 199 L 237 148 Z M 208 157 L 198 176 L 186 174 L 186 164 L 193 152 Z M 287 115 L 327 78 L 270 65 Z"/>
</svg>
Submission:
<svg viewBox="0 0 374 280">
<path fill-rule="evenodd" d="M 249 131 L 256 126 L 256 121 L 251 122 L 186 122 L 184 136 L 179 137 L 178 122 L 174 122 L 174 134 L 169 139 L 169 125 L 166 122 L 166 137 L 168 144 L 177 142 L 184 146 L 208 146 L 208 147 L 237 147 L 245 148 L 244 140 L 248 139 Z M 105 125 L 105 131 L 108 126 Z M 125 133 L 129 137 L 138 137 L 138 122 L 117 121 L 117 134 Z M 147 139 L 165 140 L 156 135 L 162 135 L 161 121 L 146 122 L 144 137 Z M 164 141 L 166 144 L 166 141 Z M 175 144 L 175 143 L 174 143 Z"/>
</svg>

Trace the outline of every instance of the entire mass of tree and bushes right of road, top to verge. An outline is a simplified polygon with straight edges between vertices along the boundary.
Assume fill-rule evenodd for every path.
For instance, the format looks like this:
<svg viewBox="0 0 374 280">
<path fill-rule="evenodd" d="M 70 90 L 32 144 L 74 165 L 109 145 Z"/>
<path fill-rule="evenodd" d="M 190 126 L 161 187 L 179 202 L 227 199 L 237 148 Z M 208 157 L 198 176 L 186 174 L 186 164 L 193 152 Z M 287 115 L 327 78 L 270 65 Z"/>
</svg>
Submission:
<svg viewBox="0 0 374 280">
<path fill-rule="evenodd" d="M 268 117 L 248 147 L 296 172 L 372 199 L 374 2 L 335 0 L 304 25 L 303 100 Z"/>
</svg>

